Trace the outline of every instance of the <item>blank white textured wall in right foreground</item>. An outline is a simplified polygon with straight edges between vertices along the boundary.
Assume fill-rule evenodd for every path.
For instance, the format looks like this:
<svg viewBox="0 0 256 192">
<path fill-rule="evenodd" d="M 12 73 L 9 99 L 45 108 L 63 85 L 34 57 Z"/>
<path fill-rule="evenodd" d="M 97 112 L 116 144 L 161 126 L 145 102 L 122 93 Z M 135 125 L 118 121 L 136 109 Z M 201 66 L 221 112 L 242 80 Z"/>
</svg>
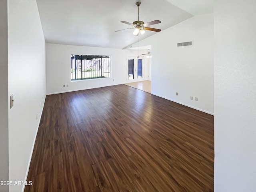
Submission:
<svg viewBox="0 0 256 192">
<path fill-rule="evenodd" d="M 256 191 L 256 1 L 215 0 L 214 191 Z"/>
</svg>

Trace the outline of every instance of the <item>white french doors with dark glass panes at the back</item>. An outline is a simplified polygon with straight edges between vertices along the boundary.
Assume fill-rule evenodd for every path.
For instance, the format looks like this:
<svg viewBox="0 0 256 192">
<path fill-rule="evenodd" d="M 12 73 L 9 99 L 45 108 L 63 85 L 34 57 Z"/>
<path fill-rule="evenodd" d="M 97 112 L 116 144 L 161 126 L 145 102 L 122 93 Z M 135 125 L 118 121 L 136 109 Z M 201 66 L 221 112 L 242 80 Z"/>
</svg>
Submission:
<svg viewBox="0 0 256 192">
<path fill-rule="evenodd" d="M 143 58 L 128 57 L 126 64 L 127 82 L 144 81 L 144 63 Z"/>
</svg>

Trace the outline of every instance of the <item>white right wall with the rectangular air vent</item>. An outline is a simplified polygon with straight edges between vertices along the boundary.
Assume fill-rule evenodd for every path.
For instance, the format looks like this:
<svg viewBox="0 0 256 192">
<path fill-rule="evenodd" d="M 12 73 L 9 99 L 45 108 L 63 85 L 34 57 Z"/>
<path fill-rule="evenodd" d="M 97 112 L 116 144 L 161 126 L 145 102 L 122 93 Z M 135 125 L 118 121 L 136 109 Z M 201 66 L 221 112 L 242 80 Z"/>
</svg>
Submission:
<svg viewBox="0 0 256 192">
<path fill-rule="evenodd" d="M 187 41 L 194 45 L 177 47 Z M 152 94 L 214 114 L 213 14 L 194 16 L 140 41 L 140 46 L 149 44 Z"/>
</svg>

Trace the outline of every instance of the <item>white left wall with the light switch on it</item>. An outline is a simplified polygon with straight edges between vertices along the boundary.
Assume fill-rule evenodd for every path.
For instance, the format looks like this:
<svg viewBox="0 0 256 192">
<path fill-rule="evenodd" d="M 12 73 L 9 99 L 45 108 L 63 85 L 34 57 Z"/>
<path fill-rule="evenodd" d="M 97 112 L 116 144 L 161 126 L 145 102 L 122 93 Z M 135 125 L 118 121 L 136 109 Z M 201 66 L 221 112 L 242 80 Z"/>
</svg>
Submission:
<svg viewBox="0 0 256 192">
<path fill-rule="evenodd" d="M 24 181 L 46 95 L 45 41 L 36 1 L 8 2 L 9 179 Z M 12 185 L 10 192 L 23 188 Z"/>
</svg>

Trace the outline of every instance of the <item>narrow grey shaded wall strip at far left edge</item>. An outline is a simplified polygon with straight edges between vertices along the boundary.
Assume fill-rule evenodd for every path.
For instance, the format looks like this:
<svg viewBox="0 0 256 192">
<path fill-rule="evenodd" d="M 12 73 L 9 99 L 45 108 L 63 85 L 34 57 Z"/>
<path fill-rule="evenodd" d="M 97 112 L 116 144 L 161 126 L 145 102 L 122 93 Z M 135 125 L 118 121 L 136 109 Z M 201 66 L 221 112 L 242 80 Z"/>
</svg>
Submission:
<svg viewBox="0 0 256 192">
<path fill-rule="evenodd" d="M 0 1 L 0 181 L 9 180 L 8 163 L 8 13 L 7 0 Z M 0 185 L 0 192 L 8 186 Z"/>
</svg>

